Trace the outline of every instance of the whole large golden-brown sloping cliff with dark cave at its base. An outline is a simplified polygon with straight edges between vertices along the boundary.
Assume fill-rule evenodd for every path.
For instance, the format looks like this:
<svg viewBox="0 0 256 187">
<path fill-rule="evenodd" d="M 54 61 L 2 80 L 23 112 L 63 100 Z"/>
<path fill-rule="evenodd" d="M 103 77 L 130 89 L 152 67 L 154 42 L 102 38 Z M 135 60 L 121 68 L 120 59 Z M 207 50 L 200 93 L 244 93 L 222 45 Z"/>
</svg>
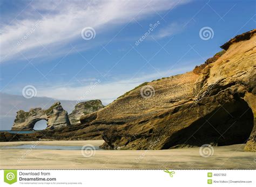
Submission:
<svg viewBox="0 0 256 187">
<path fill-rule="evenodd" d="M 245 149 L 255 151 L 255 32 L 227 42 L 223 47 L 226 52 L 200 75 L 190 72 L 147 83 L 155 90 L 152 98 L 141 97 L 139 87 L 96 112 L 86 123 L 109 124 L 102 135 L 106 149 L 247 142 Z M 151 146 L 150 142 L 156 141 Z"/>
</svg>

